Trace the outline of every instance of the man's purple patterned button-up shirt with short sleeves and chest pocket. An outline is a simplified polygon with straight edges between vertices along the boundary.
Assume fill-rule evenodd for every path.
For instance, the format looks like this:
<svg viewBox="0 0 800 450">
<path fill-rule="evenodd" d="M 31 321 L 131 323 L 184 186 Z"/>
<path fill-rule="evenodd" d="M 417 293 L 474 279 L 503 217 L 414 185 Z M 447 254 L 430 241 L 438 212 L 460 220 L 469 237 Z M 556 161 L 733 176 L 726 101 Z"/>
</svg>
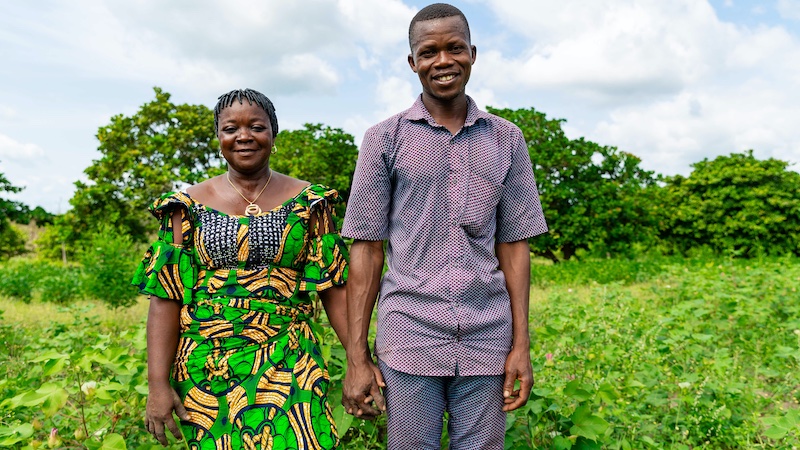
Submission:
<svg viewBox="0 0 800 450">
<path fill-rule="evenodd" d="M 467 97 L 455 135 L 422 103 L 367 130 L 342 235 L 388 240 L 375 350 L 412 375 L 500 375 L 511 303 L 495 242 L 547 231 L 520 129 Z"/>
</svg>

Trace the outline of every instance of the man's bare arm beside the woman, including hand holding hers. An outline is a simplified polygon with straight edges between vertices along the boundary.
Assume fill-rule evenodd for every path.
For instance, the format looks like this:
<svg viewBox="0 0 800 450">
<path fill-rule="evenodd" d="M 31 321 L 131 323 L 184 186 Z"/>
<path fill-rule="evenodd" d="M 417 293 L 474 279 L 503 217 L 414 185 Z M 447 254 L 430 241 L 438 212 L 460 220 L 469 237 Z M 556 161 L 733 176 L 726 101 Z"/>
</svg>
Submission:
<svg viewBox="0 0 800 450">
<path fill-rule="evenodd" d="M 347 280 L 347 373 L 342 404 L 349 414 L 372 418 L 386 410 L 380 388 L 384 386 L 369 350 L 372 310 L 383 270 L 383 241 L 356 240 L 350 248 Z M 372 402 L 376 407 L 373 407 Z"/>
</svg>

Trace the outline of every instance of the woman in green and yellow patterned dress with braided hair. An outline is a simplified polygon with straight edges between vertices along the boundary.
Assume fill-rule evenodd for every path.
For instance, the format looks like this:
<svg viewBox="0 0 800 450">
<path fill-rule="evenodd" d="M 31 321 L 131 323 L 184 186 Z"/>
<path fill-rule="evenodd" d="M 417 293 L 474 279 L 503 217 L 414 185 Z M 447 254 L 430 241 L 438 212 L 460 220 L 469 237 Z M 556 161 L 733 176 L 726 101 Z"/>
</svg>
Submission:
<svg viewBox="0 0 800 450">
<path fill-rule="evenodd" d="M 151 298 L 145 423 L 189 448 L 335 448 L 328 374 L 309 327 L 319 293 L 345 341 L 347 248 L 337 193 L 273 172 L 272 102 L 234 90 L 214 123 L 228 172 L 165 195 L 133 283 Z M 165 429 L 166 428 L 166 429 Z"/>
</svg>

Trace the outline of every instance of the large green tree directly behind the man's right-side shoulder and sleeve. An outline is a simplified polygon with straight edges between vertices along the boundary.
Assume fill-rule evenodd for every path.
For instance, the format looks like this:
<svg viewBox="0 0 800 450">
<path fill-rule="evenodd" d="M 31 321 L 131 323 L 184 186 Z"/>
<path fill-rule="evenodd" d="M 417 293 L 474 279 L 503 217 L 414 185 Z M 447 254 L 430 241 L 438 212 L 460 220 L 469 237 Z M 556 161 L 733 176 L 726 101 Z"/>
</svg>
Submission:
<svg viewBox="0 0 800 450">
<path fill-rule="evenodd" d="M 558 262 L 578 250 L 619 254 L 655 234 L 653 172 L 636 156 L 587 141 L 569 139 L 563 119 L 531 109 L 489 112 L 516 124 L 525 136 L 550 232 L 530 241 L 531 251 Z"/>
</svg>

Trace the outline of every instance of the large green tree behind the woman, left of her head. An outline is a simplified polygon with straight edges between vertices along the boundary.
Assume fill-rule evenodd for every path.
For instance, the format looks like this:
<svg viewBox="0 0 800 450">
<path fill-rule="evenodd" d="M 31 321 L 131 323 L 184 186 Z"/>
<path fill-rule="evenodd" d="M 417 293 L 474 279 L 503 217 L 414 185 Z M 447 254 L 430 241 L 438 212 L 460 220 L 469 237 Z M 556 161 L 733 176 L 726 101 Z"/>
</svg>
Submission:
<svg viewBox="0 0 800 450">
<path fill-rule="evenodd" d="M 152 231 L 147 206 L 164 192 L 197 183 L 223 169 L 211 110 L 176 105 L 154 88 L 155 99 L 132 116 L 122 114 L 100 127 L 100 159 L 75 183 L 72 209 L 61 226 L 69 240 L 109 224 L 144 241 Z"/>
</svg>

